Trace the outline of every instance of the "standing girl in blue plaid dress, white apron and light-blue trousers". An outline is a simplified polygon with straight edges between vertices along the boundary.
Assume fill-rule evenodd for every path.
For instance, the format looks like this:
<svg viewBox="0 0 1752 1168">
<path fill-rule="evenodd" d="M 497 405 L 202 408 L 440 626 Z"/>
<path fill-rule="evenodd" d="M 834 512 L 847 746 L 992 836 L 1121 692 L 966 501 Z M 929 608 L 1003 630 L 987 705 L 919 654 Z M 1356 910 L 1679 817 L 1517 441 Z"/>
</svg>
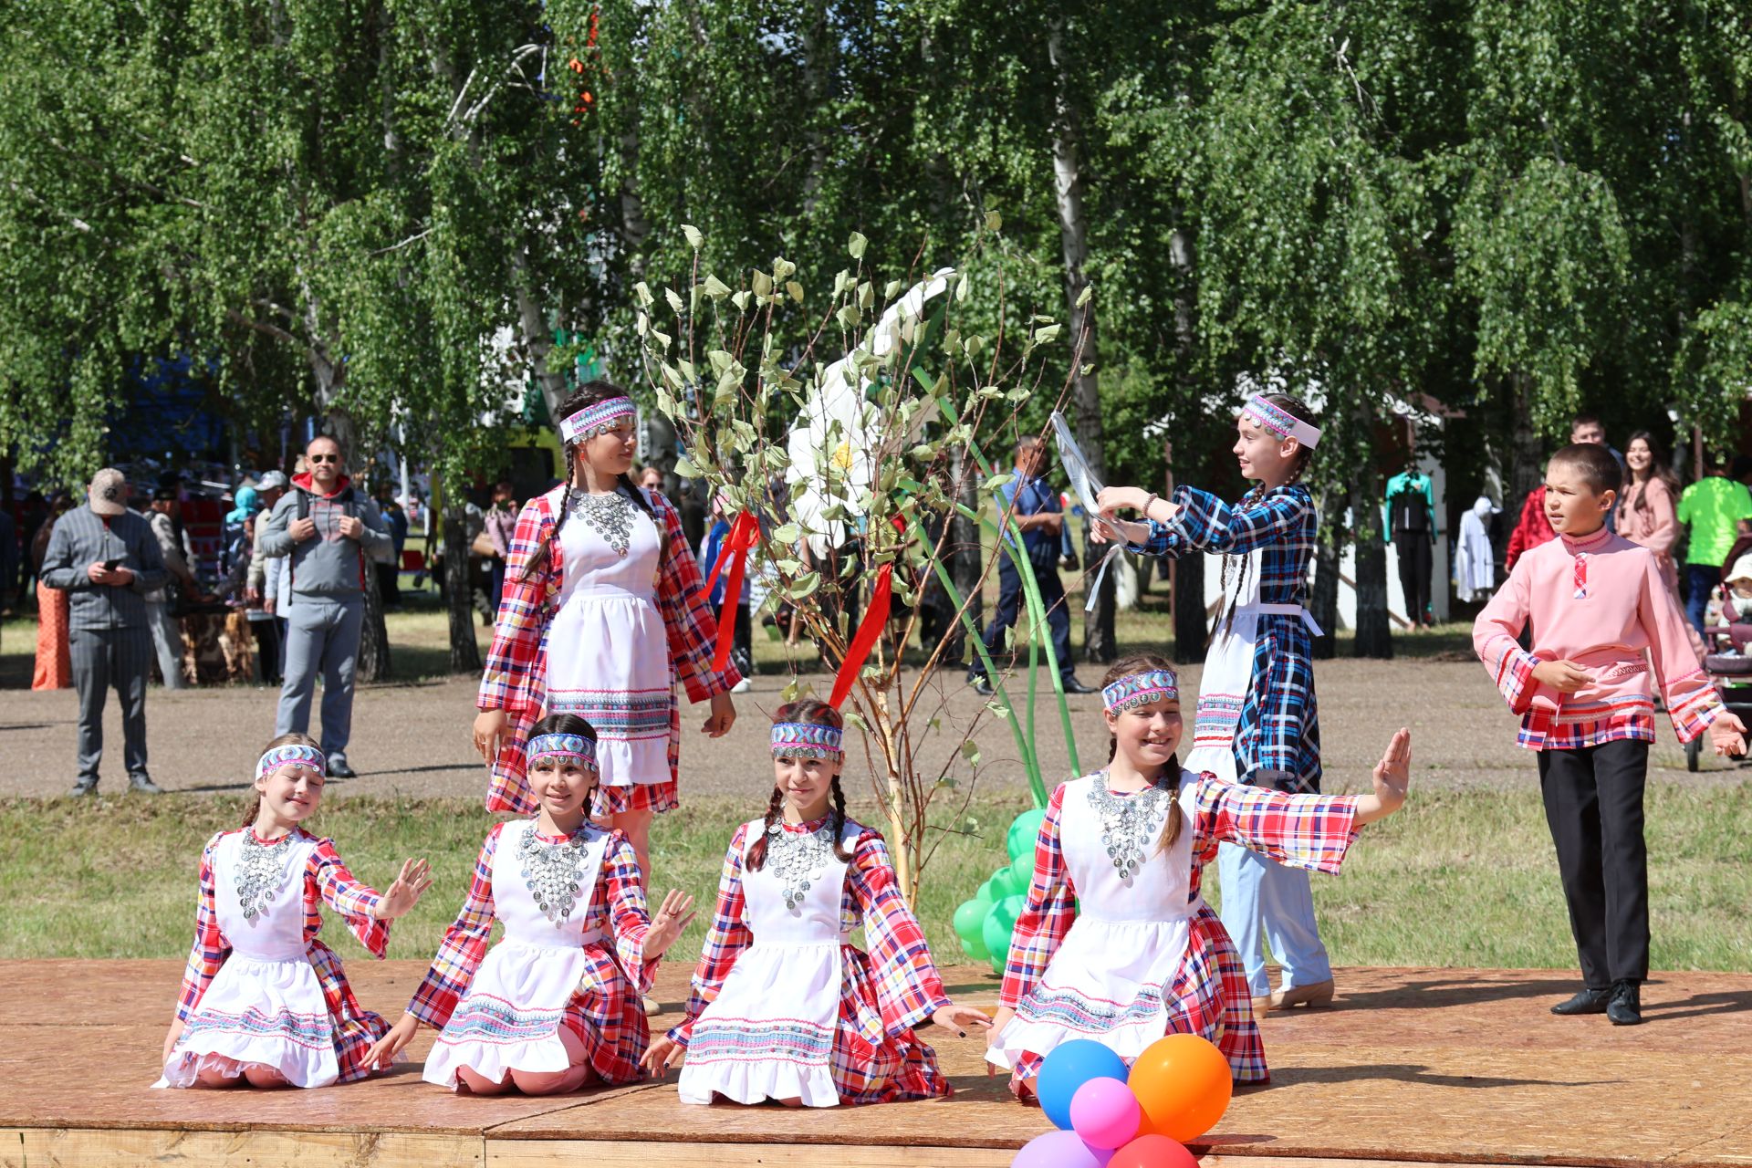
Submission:
<svg viewBox="0 0 1752 1168">
<path fill-rule="evenodd" d="M 1319 520 L 1300 482 L 1319 443 L 1310 417 L 1288 394 L 1247 399 L 1235 419 L 1233 454 L 1242 476 L 1258 485 L 1235 506 L 1193 487 L 1177 487 L 1172 501 L 1141 487 L 1109 487 L 1095 499 L 1135 552 L 1223 557 L 1223 608 L 1200 676 L 1186 765 L 1288 793 L 1319 792 L 1321 776 L 1312 650 L 1319 627 L 1303 608 Z M 1142 522 L 1113 518 L 1121 510 Z M 1223 925 L 1240 947 L 1254 1012 L 1332 1002 L 1332 963 L 1307 872 L 1246 848 L 1225 848 L 1218 872 Z M 1260 951 L 1261 921 L 1284 970 L 1277 991 Z"/>
</svg>

